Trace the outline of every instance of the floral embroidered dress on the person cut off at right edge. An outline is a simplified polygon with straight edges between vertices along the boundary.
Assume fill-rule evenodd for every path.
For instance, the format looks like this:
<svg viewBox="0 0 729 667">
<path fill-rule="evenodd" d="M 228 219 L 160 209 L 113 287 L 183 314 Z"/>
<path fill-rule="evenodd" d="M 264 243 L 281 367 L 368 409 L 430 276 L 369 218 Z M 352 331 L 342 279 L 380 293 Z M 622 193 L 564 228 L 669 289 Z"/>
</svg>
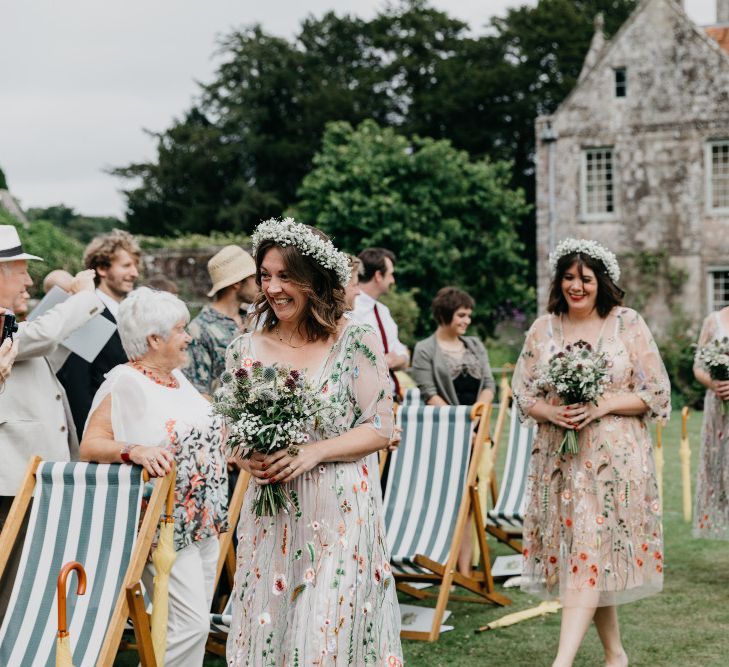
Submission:
<svg viewBox="0 0 729 667">
<path fill-rule="evenodd" d="M 699 347 L 727 335 L 719 312 L 711 313 L 701 327 Z M 694 537 L 729 540 L 729 417 L 721 414 L 721 399 L 711 389 L 704 398 L 693 532 Z"/>
</svg>

